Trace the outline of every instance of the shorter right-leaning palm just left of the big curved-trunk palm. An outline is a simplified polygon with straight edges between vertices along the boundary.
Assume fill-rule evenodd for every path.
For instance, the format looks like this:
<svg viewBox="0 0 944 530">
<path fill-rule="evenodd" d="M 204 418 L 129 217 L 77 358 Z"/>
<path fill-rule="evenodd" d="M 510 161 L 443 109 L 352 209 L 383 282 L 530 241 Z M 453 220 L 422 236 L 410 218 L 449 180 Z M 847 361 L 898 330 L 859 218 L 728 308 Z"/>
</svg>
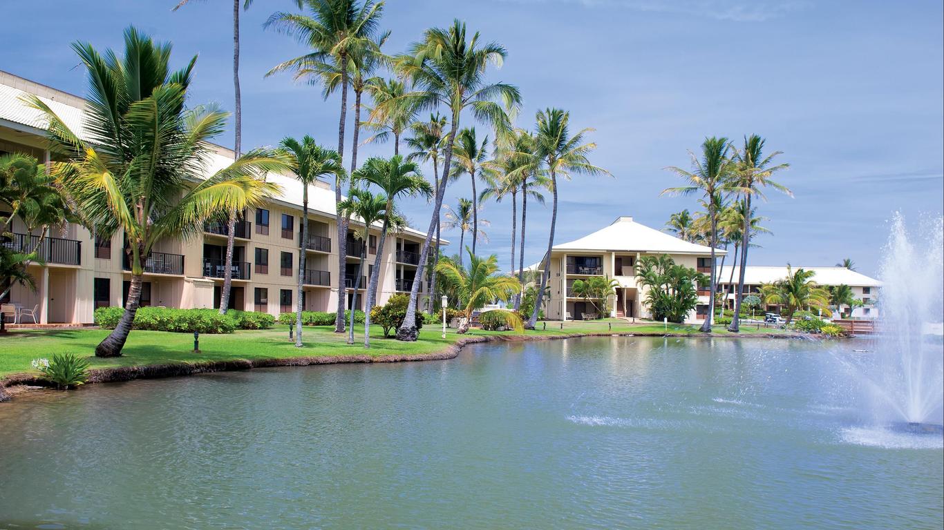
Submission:
<svg viewBox="0 0 944 530">
<path fill-rule="evenodd" d="M 387 197 L 387 205 L 384 207 L 383 226 L 380 228 L 380 238 L 377 243 L 377 257 L 374 259 L 374 270 L 370 273 L 370 280 L 367 285 L 367 304 L 364 307 L 366 313 L 366 323 L 363 335 L 363 346 L 370 347 L 370 309 L 374 306 L 377 297 L 377 285 L 380 277 L 381 258 L 383 257 L 383 243 L 387 239 L 387 233 L 396 224 L 400 224 L 399 216 L 396 215 L 395 201 L 401 196 L 423 195 L 430 197 L 432 187 L 430 183 L 423 178 L 419 172 L 419 167 L 413 162 L 403 160 L 403 157 L 395 155 L 390 159 L 369 158 L 367 162 L 354 174 L 354 179 L 366 184 L 377 186 Z M 420 281 L 416 278 L 414 281 Z"/>
</svg>

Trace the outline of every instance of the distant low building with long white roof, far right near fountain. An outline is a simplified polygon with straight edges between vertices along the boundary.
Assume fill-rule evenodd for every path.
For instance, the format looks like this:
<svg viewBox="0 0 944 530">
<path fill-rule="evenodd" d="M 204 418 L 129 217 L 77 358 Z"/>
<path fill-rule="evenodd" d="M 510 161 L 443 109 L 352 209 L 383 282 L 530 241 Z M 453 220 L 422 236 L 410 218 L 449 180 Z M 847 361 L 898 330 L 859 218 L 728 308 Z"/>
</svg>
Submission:
<svg viewBox="0 0 944 530">
<path fill-rule="evenodd" d="M 816 273 L 811 281 L 816 282 L 822 287 L 835 287 L 839 285 L 848 285 L 852 290 L 852 296 L 862 301 L 862 306 L 850 307 L 840 306 L 839 312 L 844 318 L 853 319 L 876 319 L 878 318 L 878 291 L 882 288 L 882 282 L 875 278 L 870 278 L 863 273 L 857 273 L 846 269 L 845 267 L 792 267 L 794 271 L 803 269 Z M 732 275 L 733 273 L 733 275 Z M 737 278 L 740 273 L 740 267 L 719 267 L 718 284 L 719 289 L 725 292 L 725 298 L 728 306 L 733 306 L 734 297 L 737 290 Z M 748 265 L 744 270 L 744 295 L 757 294 L 760 292 L 763 284 L 773 283 L 786 277 L 785 266 L 767 266 L 767 265 Z M 778 311 L 777 306 L 764 306 L 766 310 Z"/>
</svg>

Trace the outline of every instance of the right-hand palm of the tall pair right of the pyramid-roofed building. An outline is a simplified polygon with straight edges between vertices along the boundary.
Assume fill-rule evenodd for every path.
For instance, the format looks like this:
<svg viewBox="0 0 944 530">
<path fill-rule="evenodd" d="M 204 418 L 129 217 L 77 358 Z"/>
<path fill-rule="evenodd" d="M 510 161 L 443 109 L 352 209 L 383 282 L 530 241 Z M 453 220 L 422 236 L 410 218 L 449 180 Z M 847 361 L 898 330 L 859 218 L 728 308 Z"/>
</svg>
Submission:
<svg viewBox="0 0 944 530">
<path fill-rule="evenodd" d="M 773 159 L 781 154 L 780 151 L 774 151 L 765 157 L 765 142 L 763 138 L 752 134 L 744 138 L 742 149 L 733 148 L 735 163 L 733 191 L 740 195 L 745 213 L 753 211 L 750 203 L 755 195 L 760 199 L 767 199 L 764 195 L 764 189 L 767 187 L 786 193 L 790 197 L 793 196 L 792 191 L 771 178 L 773 174 L 785 170 L 790 165 L 785 163 L 774 165 Z M 739 330 L 741 295 L 744 293 L 744 271 L 748 266 L 748 251 L 750 250 L 750 217 L 750 215 L 744 216 L 744 229 L 741 233 L 741 268 L 737 279 L 737 295 L 734 297 L 734 315 L 731 325 L 728 326 L 728 331 L 733 332 Z"/>
</svg>

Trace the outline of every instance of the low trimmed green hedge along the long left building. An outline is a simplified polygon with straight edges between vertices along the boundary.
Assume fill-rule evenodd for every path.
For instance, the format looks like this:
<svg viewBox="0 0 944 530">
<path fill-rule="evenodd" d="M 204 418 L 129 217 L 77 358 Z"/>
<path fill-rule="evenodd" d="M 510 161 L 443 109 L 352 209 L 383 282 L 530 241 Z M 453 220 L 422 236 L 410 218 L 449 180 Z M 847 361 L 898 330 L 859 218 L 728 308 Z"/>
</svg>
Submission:
<svg viewBox="0 0 944 530">
<path fill-rule="evenodd" d="M 124 307 L 95 309 L 95 323 L 114 329 L 125 313 Z M 174 307 L 139 307 L 133 329 L 175 333 L 232 333 L 236 329 L 268 329 L 275 318 L 266 313 L 230 309 L 221 315 L 216 309 L 177 309 Z"/>
</svg>

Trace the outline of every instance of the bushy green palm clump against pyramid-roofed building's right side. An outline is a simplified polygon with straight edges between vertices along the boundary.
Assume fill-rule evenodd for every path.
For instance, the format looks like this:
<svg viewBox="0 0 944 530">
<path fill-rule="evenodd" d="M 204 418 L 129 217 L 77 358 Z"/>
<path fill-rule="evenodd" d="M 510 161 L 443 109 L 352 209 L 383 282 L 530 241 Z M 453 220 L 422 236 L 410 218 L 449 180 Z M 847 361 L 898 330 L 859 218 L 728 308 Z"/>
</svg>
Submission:
<svg viewBox="0 0 944 530">
<path fill-rule="evenodd" d="M 649 307 L 652 319 L 667 319 L 672 323 L 685 322 L 685 317 L 699 303 L 696 285 L 708 281 L 705 274 L 677 264 L 666 254 L 640 257 L 636 275 L 639 285 L 647 288 L 644 304 Z"/>
</svg>

